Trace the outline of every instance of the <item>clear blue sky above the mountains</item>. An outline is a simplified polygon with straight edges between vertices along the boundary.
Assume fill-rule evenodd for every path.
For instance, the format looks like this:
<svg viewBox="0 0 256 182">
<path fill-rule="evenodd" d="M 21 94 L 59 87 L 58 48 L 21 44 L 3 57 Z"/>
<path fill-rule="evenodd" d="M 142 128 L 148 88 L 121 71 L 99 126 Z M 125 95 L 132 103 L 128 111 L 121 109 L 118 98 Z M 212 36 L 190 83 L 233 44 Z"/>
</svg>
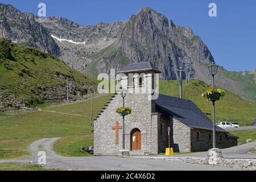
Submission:
<svg viewBox="0 0 256 182">
<path fill-rule="evenodd" d="M 130 18 L 141 7 L 151 7 L 180 26 L 189 26 L 203 39 L 217 64 L 229 71 L 256 68 L 255 0 L 22 0 L 5 1 L 20 11 L 38 14 L 46 3 L 47 16 L 61 16 L 84 25 L 113 23 Z M 209 17 L 209 3 L 217 5 L 217 17 Z"/>
</svg>

